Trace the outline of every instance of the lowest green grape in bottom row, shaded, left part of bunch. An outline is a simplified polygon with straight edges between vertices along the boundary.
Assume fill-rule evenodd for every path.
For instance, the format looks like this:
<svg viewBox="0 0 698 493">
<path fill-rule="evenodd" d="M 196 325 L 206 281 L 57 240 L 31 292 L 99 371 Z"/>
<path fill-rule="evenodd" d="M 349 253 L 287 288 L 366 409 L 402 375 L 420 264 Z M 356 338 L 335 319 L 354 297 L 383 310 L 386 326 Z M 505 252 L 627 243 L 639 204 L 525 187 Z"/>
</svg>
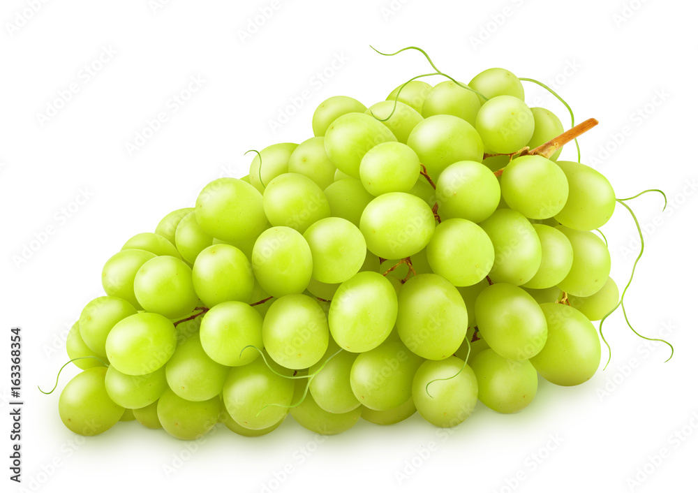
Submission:
<svg viewBox="0 0 698 493">
<path fill-rule="evenodd" d="M 158 400 L 158 419 L 170 435 L 180 440 L 195 440 L 211 431 L 218 422 L 221 399 L 192 402 L 167 389 Z"/>
</svg>

